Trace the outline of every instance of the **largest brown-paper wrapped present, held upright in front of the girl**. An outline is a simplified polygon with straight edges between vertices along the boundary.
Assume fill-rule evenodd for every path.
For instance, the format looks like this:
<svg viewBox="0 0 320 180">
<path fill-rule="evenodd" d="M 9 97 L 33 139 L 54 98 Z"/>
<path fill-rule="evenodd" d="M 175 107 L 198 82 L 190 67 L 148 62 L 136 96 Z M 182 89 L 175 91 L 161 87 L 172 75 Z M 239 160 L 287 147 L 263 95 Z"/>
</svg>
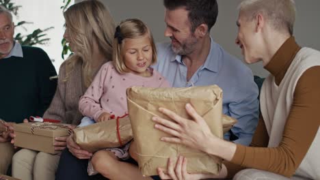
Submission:
<svg viewBox="0 0 320 180">
<path fill-rule="evenodd" d="M 178 155 L 187 157 L 187 172 L 217 174 L 221 169 L 221 159 L 202 151 L 190 149 L 183 145 L 160 140 L 169 136 L 155 130 L 154 116 L 165 117 L 159 107 L 168 108 L 186 119 L 191 119 L 185 110 L 185 104 L 194 106 L 200 116 L 209 125 L 211 132 L 223 138 L 222 129 L 222 89 L 216 85 L 208 87 L 187 88 L 146 88 L 131 87 L 126 90 L 129 117 L 133 137 L 137 144 L 137 157 L 142 175 L 157 175 L 157 168 L 166 168 L 168 158 L 174 163 Z"/>
</svg>

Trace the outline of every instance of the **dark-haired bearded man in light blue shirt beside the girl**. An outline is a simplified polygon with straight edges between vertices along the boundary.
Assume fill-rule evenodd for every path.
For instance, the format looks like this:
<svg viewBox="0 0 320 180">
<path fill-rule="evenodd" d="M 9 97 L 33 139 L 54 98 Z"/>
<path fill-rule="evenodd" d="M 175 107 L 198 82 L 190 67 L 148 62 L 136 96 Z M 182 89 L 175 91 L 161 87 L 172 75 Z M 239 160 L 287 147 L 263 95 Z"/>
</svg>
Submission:
<svg viewBox="0 0 320 180">
<path fill-rule="evenodd" d="M 218 85 L 224 91 L 223 112 L 238 123 L 226 140 L 249 145 L 258 123 L 258 88 L 251 70 L 213 41 L 217 20 L 215 0 L 164 0 L 165 36 L 157 44 L 155 66 L 173 87 Z"/>
</svg>

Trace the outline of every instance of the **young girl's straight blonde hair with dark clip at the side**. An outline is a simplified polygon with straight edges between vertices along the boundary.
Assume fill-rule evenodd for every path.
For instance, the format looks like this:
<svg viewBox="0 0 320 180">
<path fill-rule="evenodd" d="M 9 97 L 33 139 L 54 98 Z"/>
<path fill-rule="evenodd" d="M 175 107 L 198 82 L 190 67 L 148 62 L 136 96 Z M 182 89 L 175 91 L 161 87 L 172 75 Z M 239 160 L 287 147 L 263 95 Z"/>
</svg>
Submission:
<svg viewBox="0 0 320 180">
<path fill-rule="evenodd" d="M 114 67 L 116 70 L 123 74 L 125 72 L 129 72 L 128 68 L 124 64 L 124 53 L 122 52 L 122 48 L 124 46 L 126 38 L 138 38 L 144 35 L 148 35 L 150 39 L 150 44 L 152 47 L 152 61 L 151 64 L 157 62 L 157 49 L 155 47 L 155 41 L 153 40 L 152 33 L 150 29 L 142 22 L 142 20 L 131 18 L 126 19 L 120 23 L 117 27 L 120 30 L 120 37 L 122 41 L 119 43 L 118 38 L 114 38 L 114 53 L 112 55 Z M 117 32 L 116 32 L 117 33 Z M 115 35 L 116 36 L 116 35 Z"/>
</svg>

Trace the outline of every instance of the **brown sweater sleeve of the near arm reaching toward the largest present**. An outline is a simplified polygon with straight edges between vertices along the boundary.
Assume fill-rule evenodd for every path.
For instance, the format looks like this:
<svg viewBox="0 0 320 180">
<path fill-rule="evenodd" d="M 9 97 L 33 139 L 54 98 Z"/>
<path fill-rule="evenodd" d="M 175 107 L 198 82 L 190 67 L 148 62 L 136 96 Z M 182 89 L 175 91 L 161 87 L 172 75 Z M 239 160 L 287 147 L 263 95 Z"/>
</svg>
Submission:
<svg viewBox="0 0 320 180">
<path fill-rule="evenodd" d="M 302 162 L 319 129 L 319 77 L 320 66 L 315 66 L 306 70 L 299 78 L 291 111 L 286 119 L 282 140 L 278 147 L 237 145 L 231 162 L 243 167 L 267 170 L 291 177 Z"/>
</svg>

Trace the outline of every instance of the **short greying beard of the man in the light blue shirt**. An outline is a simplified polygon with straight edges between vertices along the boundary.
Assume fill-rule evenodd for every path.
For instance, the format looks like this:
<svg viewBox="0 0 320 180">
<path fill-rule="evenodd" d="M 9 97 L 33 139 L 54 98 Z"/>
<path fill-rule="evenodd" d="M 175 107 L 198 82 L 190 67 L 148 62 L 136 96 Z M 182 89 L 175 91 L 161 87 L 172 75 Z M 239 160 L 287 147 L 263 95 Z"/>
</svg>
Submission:
<svg viewBox="0 0 320 180">
<path fill-rule="evenodd" d="M 174 37 L 170 37 L 171 39 L 174 39 Z M 177 55 L 189 55 L 191 52 L 194 51 L 194 46 L 198 43 L 198 40 L 194 35 L 191 35 L 185 42 L 178 42 L 178 46 L 172 45 L 172 50 Z"/>
</svg>

